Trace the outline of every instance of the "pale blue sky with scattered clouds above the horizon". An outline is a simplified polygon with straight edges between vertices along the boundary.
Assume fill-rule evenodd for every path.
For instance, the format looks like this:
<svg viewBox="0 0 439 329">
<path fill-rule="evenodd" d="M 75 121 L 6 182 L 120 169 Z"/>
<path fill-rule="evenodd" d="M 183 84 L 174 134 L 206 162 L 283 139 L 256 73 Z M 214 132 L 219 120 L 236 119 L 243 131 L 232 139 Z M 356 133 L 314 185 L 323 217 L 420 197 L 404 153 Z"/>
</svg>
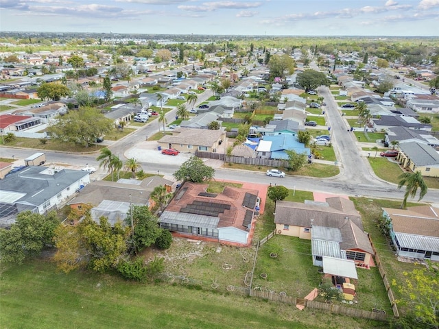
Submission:
<svg viewBox="0 0 439 329">
<path fill-rule="evenodd" d="M 0 0 L 0 31 L 438 36 L 439 0 Z"/>
</svg>

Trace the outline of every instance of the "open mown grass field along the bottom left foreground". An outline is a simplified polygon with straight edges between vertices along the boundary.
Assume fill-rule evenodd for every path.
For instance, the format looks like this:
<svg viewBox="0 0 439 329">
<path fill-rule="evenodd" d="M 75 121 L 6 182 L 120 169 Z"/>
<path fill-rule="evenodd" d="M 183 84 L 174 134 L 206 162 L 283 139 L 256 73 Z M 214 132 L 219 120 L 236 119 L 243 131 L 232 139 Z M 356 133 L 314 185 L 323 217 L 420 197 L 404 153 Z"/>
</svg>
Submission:
<svg viewBox="0 0 439 329">
<path fill-rule="evenodd" d="M 88 271 L 64 274 L 47 260 L 3 266 L 0 293 L 2 328 L 385 328 L 190 284 L 137 284 Z"/>
</svg>

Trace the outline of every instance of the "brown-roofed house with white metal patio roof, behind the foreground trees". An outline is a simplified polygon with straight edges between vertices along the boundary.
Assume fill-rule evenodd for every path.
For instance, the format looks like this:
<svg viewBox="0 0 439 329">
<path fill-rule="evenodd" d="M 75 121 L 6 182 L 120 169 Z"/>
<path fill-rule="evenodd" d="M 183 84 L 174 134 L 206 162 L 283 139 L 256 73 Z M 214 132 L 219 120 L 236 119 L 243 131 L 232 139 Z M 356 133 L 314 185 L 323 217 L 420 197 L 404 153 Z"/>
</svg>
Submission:
<svg viewBox="0 0 439 329">
<path fill-rule="evenodd" d="M 91 204 L 91 217 L 99 223 L 99 218 L 108 218 L 111 226 L 117 221 L 124 221 L 131 204 L 152 208 L 154 201 L 150 194 L 156 186 L 165 186 L 171 192 L 172 182 L 161 176 L 152 176 L 144 180 L 121 179 L 117 182 L 97 180 L 84 186 L 78 195 L 68 205 L 80 209 L 85 204 Z"/>
</svg>

